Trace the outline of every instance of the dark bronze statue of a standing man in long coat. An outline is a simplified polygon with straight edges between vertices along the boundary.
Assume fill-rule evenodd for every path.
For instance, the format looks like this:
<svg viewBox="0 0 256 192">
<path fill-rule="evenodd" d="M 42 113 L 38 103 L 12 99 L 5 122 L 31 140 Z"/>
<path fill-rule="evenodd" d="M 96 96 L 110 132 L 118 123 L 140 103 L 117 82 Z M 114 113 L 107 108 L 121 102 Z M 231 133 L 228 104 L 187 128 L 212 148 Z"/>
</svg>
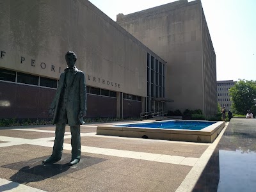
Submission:
<svg viewBox="0 0 256 192">
<path fill-rule="evenodd" d="M 55 140 L 52 155 L 42 163 L 56 163 L 60 161 L 66 124 L 70 125 L 72 158 L 69 166 L 79 163 L 81 157 L 80 125 L 86 115 L 86 84 L 84 73 L 75 66 L 77 57 L 72 51 L 66 56 L 68 68 L 60 75 L 60 81 L 49 115 L 53 115 L 56 124 Z"/>
</svg>

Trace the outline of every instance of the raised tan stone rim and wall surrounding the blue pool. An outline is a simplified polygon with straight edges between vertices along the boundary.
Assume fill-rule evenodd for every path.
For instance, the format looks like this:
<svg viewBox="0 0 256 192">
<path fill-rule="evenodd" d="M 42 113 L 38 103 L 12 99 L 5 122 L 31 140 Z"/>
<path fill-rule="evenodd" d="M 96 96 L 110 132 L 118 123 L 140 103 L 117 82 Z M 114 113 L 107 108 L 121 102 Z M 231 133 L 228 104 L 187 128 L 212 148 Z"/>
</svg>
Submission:
<svg viewBox="0 0 256 192">
<path fill-rule="evenodd" d="M 172 120 L 180 121 L 180 120 Z M 162 121 L 167 122 L 167 121 Z M 207 121 L 195 121 L 207 122 Z M 147 124 L 150 122 L 143 122 Z M 134 123 L 138 124 L 138 123 Z M 118 125 L 118 126 L 116 126 Z M 124 126 L 120 126 L 124 125 Z M 100 125 L 97 127 L 97 134 L 107 136 L 121 136 L 129 138 L 146 138 L 154 140 L 191 141 L 199 143 L 212 143 L 221 130 L 225 127 L 225 122 L 216 122 L 201 130 L 184 129 L 155 129 L 145 127 L 125 127 L 127 124 Z M 131 124 L 129 124 L 131 125 Z"/>
</svg>

